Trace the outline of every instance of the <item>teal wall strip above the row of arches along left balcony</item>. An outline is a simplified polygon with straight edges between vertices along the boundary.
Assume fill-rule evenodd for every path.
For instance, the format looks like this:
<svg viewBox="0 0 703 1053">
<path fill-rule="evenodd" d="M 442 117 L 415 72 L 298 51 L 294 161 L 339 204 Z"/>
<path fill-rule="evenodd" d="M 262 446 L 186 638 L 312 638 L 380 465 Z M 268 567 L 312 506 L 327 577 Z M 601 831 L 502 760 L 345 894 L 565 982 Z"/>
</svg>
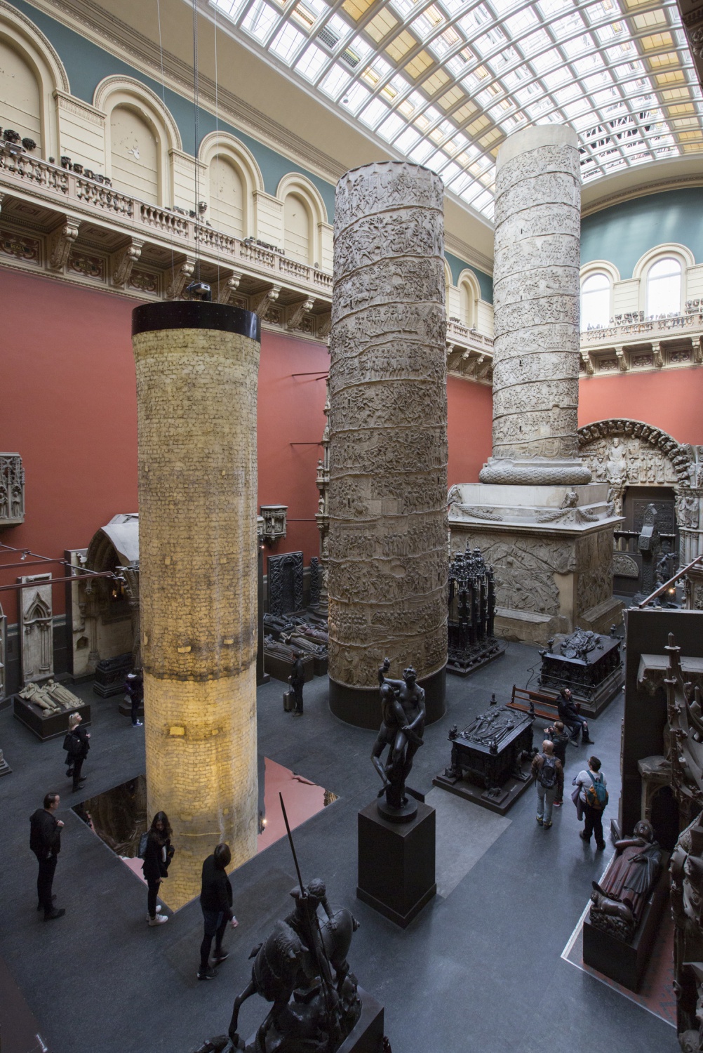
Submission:
<svg viewBox="0 0 703 1053">
<path fill-rule="evenodd" d="M 26 15 L 27 18 L 31 18 L 44 36 L 51 40 L 68 75 L 72 95 L 75 95 L 78 99 L 83 99 L 84 102 L 93 103 L 95 90 L 105 77 L 133 77 L 135 80 L 139 80 L 142 84 L 150 87 L 159 98 L 164 100 L 181 133 L 183 150 L 187 154 L 195 156 L 195 106 L 192 102 L 184 99 L 182 95 L 172 92 L 170 88 L 162 87 L 159 81 L 140 73 L 139 69 L 127 65 L 126 62 L 122 62 L 121 59 L 111 55 L 109 52 L 98 47 L 97 44 L 86 40 L 85 37 L 81 37 L 80 34 L 69 29 L 61 22 L 57 22 L 56 19 L 49 18 L 48 15 L 33 7 L 25 0 L 14 0 L 13 6 L 23 15 Z M 287 157 L 282 157 L 276 151 L 270 150 L 270 147 L 246 135 L 246 133 L 240 132 L 239 128 L 234 127 L 232 124 L 227 124 L 226 121 L 220 120 L 217 126 L 221 132 L 229 132 L 240 142 L 243 142 L 245 146 L 248 146 L 257 160 L 257 164 L 261 168 L 264 188 L 267 194 L 276 194 L 279 182 L 287 173 L 299 172 L 306 176 L 310 182 L 315 183 L 320 191 L 325 207 L 327 208 L 327 218 L 330 223 L 334 222 L 335 186 L 332 183 L 301 167 Z M 210 132 L 215 132 L 215 115 L 210 114 L 207 110 L 200 108 L 198 131 L 201 140 Z M 76 158 L 76 160 L 79 160 L 79 158 Z M 453 256 L 450 253 L 446 253 L 445 255 L 451 269 L 454 281 L 457 281 L 457 278 L 465 267 L 469 267 L 478 278 L 481 296 L 484 300 L 493 303 L 493 281 L 490 277 L 482 271 L 469 266 L 468 263 Z"/>
</svg>

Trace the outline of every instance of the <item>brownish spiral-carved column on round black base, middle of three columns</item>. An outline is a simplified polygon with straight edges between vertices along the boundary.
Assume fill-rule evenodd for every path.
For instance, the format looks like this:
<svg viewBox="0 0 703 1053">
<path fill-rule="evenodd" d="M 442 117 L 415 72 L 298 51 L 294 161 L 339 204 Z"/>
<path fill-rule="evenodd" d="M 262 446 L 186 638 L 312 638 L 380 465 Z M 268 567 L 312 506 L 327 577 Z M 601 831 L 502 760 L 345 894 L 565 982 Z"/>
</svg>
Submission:
<svg viewBox="0 0 703 1053">
<path fill-rule="evenodd" d="M 337 186 L 329 390 L 329 704 L 377 728 L 377 671 L 414 660 L 444 712 L 443 186 L 407 162 Z"/>
</svg>

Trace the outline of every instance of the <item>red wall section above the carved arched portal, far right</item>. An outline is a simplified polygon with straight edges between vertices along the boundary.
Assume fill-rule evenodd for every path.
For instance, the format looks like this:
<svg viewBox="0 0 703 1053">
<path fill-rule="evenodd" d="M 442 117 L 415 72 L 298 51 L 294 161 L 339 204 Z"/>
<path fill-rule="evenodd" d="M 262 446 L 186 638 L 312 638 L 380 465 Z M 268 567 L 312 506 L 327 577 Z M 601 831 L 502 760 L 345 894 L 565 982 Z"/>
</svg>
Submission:
<svg viewBox="0 0 703 1053">
<path fill-rule="evenodd" d="M 579 383 L 579 425 L 611 417 L 644 420 L 679 442 L 703 442 L 703 370 L 586 377 Z"/>
</svg>

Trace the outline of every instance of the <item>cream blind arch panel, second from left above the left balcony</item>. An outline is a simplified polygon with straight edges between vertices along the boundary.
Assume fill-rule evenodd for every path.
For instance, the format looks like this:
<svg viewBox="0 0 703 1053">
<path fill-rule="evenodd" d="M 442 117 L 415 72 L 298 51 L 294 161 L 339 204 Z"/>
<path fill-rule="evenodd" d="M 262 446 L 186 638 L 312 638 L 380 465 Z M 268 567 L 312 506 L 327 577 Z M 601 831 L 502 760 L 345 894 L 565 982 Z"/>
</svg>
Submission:
<svg viewBox="0 0 703 1053">
<path fill-rule="evenodd" d="M 115 187 L 147 204 L 157 204 L 159 146 L 141 114 L 130 106 L 115 106 L 111 115 L 111 145 Z"/>
</svg>

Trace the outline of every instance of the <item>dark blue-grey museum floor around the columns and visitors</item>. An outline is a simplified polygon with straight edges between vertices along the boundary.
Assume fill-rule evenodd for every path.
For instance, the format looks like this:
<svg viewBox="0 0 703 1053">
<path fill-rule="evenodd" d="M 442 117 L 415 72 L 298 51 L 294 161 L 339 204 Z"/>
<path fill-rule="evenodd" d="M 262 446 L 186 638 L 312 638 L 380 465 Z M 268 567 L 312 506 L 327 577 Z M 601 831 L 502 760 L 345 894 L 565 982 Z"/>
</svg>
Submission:
<svg viewBox="0 0 703 1053">
<path fill-rule="evenodd" d="M 510 644 L 473 676 L 447 677 L 447 714 L 427 729 L 411 777 L 438 808 L 440 894 L 405 931 L 356 898 L 357 812 L 378 789 L 369 763 L 375 733 L 329 714 L 325 679 L 306 686 L 302 720 L 283 713 L 281 683 L 259 689 L 261 753 L 339 796 L 296 831 L 296 845 L 303 874 L 323 877 L 333 901 L 361 921 L 349 960 L 385 1006 L 394 1053 L 542 1053 L 545 1042 L 565 1053 L 679 1048 L 671 1027 L 560 957 L 610 852 L 596 853 L 579 839 L 568 794 L 553 829 L 543 831 L 531 789 L 505 819 L 431 789 L 448 763 L 451 724 L 485 709 L 493 691 L 506 701 L 514 682 L 535 683 L 538 665 L 536 650 Z M 89 684 L 76 691 L 93 703 L 87 797 L 144 771 L 143 733 L 118 714 L 117 699 L 99 699 Z M 617 814 L 621 718 L 618 698 L 591 729 L 608 779 L 606 819 Z M 168 925 L 147 928 L 144 887 L 69 810 L 78 795 L 65 779 L 61 739 L 39 742 L 5 710 L 0 744 L 13 768 L 0 779 L 0 956 L 51 1053 L 188 1053 L 225 1031 L 233 997 L 249 977 L 252 947 L 288 910 L 295 879 L 287 843 L 235 872 L 240 926 L 225 937 L 230 957 L 216 980 L 199 984 L 198 902 Z M 569 747 L 568 784 L 586 752 Z M 54 890 L 67 913 L 44 923 L 27 820 L 49 789 L 62 793 L 66 826 Z M 250 998 L 242 1033 L 250 1034 L 266 1010 Z"/>
</svg>

